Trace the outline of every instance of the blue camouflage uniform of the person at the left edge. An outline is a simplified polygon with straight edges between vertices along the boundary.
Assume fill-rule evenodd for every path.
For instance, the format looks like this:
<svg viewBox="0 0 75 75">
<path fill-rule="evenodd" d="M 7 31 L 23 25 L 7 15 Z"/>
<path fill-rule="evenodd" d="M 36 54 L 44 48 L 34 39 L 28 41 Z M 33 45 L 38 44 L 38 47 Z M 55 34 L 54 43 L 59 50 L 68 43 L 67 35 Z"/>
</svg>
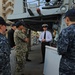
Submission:
<svg viewBox="0 0 75 75">
<path fill-rule="evenodd" d="M 10 46 L 7 38 L 0 33 L 0 75 L 11 75 Z"/>
</svg>

